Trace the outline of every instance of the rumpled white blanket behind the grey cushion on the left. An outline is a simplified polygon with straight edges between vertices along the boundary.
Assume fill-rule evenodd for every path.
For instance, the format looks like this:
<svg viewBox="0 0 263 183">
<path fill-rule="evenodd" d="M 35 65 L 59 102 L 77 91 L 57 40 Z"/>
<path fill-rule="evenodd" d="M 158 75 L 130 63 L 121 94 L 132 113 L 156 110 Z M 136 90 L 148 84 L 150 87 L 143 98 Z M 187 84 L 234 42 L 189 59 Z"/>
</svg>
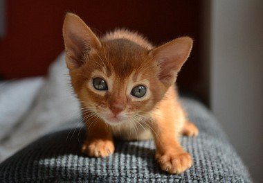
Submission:
<svg viewBox="0 0 263 183">
<path fill-rule="evenodd" d="M 46 79 L 1 83 L 0 162 L 38 137 L 79 117 L 64 53 L 51 65 Z"/>
</svg>

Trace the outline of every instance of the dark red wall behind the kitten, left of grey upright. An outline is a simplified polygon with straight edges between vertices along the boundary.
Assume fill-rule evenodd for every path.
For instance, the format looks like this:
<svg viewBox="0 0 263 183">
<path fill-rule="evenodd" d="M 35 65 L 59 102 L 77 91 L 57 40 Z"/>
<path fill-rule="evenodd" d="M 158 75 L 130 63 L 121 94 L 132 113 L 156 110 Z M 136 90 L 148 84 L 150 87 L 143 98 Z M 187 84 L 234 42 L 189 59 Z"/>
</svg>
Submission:
<svg viewBox="0 0 263 183">
<path fill-rule="evenodd" d="M 194 49 L 180 82 L 190 86 L 199 78 L 200 1 L 6 2 L 7 30 L 0 40 L 0 75 L 4 79 L 46 74 L 48 65 L 63 50 L 62 23 L 68 11 L 80 15 L 99 35 L 127 27 L 155 44 L 190 35 L 195 40 Z"/>
</svg>

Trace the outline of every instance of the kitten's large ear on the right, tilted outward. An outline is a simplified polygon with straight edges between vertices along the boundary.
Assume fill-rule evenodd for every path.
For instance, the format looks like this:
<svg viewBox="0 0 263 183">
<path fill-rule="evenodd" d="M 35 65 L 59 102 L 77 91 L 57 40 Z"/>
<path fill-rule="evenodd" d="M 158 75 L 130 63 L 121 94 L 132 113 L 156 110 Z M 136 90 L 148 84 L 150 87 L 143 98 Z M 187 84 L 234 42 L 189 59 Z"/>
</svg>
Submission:
<svg viewBox="0 0 263 183">
<path fill-rule="evenodd" d="M 172 85 L 192 49 L 190 37 L 179 37 L 152 50 L 151 54 L 160 67 L 158 78 L 165 85 Z"/>
</svg>

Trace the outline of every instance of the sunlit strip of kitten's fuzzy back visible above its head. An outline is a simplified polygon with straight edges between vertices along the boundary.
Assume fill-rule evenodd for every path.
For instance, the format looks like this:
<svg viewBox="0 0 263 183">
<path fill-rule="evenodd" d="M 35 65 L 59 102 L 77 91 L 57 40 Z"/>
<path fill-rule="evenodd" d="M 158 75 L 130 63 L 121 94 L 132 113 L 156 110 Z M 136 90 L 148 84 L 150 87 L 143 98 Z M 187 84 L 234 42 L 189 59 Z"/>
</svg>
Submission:
<svg viewBox="0 0 263 183">
<path fill-rule="evenodd" d="M 107 33 L 105 36 L 101 38 L 102 41 L 118 40 L 118 39 L 130 40 L 140 46 L 143 46 L 143 48 L 145 49 L 154 48 L 154 46 L 152 46 L 152 44 L 145 37 L 143 37 L 143 35 L 127 30 L 125 28 L 116 29 L 112 32 Z"/>
</svg>

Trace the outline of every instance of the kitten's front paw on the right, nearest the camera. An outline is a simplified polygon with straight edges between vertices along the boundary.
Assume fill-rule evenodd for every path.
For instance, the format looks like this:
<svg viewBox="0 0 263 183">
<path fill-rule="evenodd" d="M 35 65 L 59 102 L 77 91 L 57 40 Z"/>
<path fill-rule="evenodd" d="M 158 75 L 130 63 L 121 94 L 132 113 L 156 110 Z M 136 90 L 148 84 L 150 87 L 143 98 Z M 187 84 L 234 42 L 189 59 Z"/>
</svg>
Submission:
<svg viewBox="0 0 263 183">
<path fill-rule="evenodd" d="M 192 166 L 192 157 L 189 153 L 160 154 L 155 159 L 163 171 L 180 174 Z"/>
</svg>

